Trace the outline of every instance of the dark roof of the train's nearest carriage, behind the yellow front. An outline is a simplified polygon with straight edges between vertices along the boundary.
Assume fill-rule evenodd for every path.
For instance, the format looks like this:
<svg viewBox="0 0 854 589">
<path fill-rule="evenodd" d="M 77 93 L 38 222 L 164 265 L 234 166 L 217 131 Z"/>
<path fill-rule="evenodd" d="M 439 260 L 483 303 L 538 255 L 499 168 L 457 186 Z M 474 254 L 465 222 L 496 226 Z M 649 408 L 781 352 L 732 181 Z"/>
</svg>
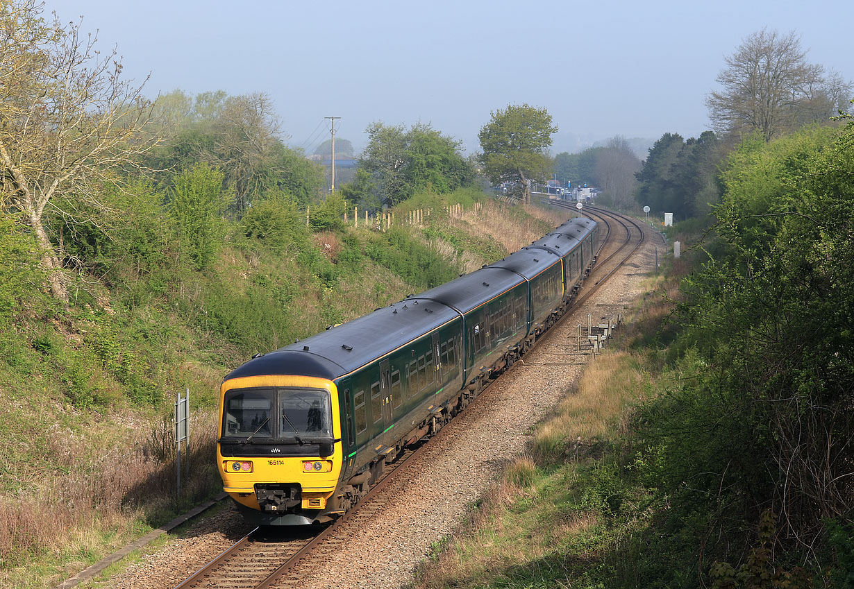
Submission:
<svg viewBox="0 0 854 589">
<path fill-rule="evenodd" d="M 251 359 L 225 380 L 272 374 L 335 380 L 457 317 L 452 309 L 430 300 L 402 300 Z"/>
</svg>

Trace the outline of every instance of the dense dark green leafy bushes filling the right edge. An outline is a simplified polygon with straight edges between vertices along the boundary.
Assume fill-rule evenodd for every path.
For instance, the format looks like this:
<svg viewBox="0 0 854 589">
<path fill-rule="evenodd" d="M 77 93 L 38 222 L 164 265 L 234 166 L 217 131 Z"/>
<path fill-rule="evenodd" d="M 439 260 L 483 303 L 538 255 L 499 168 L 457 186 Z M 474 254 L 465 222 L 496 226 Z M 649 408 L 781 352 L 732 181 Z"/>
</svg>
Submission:
<svg viewBox="0 0 854 589">
<path fill-rule="evenodd" d="M 854 509 L 852 166 L 849 124 L 751 138 L 722 173 L 725 249 L 683 281 L 678 383 L 639 420 L 650 482 L 709 553 L 771 509 L 775 544 L 816 563 Z"/>
</svg>

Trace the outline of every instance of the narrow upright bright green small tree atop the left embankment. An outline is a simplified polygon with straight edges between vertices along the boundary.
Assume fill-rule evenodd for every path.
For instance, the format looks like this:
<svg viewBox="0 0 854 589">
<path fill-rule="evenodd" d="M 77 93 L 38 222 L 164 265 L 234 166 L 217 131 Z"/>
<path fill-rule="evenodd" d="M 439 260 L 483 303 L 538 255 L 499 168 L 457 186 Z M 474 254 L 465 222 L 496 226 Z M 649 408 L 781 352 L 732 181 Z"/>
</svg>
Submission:
<svg viewBox="0 0 854 589">
<path fill-rule="evenodd" d="M 172 211 L 190 260 L 197 270 L 208 268 L 219 242 L 217 213 L 224 204 L 224 174 L 206 164 L 197 164 L 175 179 Z"/>
</svg>

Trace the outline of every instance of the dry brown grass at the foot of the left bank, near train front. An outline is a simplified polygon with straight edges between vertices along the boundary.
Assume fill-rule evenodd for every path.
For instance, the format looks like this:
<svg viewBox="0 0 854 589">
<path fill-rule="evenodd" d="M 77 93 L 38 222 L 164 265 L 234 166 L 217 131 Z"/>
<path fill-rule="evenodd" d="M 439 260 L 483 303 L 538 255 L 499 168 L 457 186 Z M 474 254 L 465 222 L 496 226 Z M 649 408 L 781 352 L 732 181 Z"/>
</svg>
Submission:
<svg viewBox="0 0 854 589">
<path fill-rule="evenodd" d="M 184 504 L 214 490 L 215 417 L 214 411 L 194 411 Z M 147 436 L 156 426 L 137 422 L 123 440 L 52 429 L 44 452 L 54 457 L 56 470 L 0 497 L 0 586 L 21 586 L 21 580 L 50 586 L 88 566 L 81 555 L 102 556 L 135 539 L 141 522 L 154 525 L 170 515 L 177 505 L 174 452 L 165 462 L 152 457 Z M 60 572 L 36 581 L 33 566 Z"/>
</svg>

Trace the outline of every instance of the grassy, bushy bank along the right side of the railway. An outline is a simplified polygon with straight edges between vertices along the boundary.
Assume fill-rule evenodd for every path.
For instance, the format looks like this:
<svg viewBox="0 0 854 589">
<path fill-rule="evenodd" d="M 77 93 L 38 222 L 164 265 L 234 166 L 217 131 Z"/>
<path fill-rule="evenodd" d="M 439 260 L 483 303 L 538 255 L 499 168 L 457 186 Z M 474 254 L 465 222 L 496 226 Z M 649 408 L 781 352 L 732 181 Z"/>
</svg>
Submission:
<svg viewBox="0 0 854 589">
<path fill-rule="evenodd" d="M 715 225 L 669 230 L 658 295 L 414 586 L 854 586 L 852 170 L 851 123 L 735 149 Z"/>
</svg>

